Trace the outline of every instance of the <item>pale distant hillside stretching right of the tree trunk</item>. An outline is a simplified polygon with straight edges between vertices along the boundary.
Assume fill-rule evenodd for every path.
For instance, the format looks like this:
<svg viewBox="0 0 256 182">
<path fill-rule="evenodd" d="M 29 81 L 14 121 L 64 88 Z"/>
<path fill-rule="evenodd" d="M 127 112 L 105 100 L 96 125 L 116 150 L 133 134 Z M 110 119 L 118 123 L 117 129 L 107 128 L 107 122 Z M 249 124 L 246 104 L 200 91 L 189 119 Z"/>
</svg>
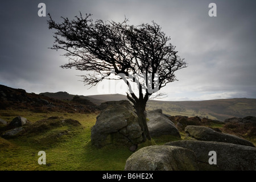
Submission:
<svg viewBox="0 0 256 182">
<path fill-rule="evenodd" d="M 162 109 L 170 115 L 187 115 L 224 119 L 231 117 L 246 117 L 256 115 L 256 99 L 230 98 L 208 101 L 148 101 L 147 108 Z"/>
</svg>

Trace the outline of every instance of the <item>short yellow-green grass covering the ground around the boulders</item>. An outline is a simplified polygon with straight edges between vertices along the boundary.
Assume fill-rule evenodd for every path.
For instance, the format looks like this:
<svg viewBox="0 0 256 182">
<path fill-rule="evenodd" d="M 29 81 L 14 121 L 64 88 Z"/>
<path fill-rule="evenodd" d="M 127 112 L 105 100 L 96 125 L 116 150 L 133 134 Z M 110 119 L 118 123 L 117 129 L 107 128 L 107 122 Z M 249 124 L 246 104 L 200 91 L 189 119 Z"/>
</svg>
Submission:
<svg viewBox="0 0 256 182">
<path fill-rule="evenodd" d="M 49 138 L 50 134 L 54 134 L 56 130 L 67 130 L 66 126 L 30 137 L 25 135 L 8 140 L 0 137 L 0 170 L 123 170 L 126 159 L 132 154 L 123 147 L 106 146 L 98 149 L 92 146 L 90 129 L 95 124 L 98 113 L 33 113 L 31 111 L 0 110 L 0 118 L 8 122 L 17 115 L 21 115 L 31 122 L 51 116 L 63 119 L 72 118 L 79 121 L 82 127 L 72 128 L 72 135 L 64 135 L 55 139 Z M 211 127 L 222 127 L 222 125 L 214 124 Z M 185 139 L 185 134 L 180 134 L 181 138 Z M 42 140 L 42 138 L 46 138 L 46 140 Z M 40 139 L 43 142 L 35 142 Z M 178 139 L 160 137 L 154 138 L 152 143 L 164 144 L 172 140 Z M 252 139 L 252 142 L 256 144 L 255 139 Z M 139 148 L 147 144 L 142 144 Z M 38 152 L 41 150 L 46 152 L 46 165 L 38 164 L 40 157 Z"/>
</svg>

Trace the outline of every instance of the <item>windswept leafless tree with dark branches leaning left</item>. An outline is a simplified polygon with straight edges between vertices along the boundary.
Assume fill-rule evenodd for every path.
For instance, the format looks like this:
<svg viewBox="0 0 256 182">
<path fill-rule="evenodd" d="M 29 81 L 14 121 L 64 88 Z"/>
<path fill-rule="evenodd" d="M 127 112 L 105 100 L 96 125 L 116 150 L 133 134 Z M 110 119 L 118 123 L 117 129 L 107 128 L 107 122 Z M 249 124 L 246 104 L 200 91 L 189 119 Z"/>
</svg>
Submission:
<svg viewBox="0 0 256 182">
<path fill-rule="evenodd" d="M 69 62 L 61 68 L 88 71 L 82 76 L 86 85 L 96 85 L 114 73 L 126 82 L 127 98 L 133 103 L 143 131 L 143 138 L 151 139 L 144 111 L 146 103 L 167 83 L 176 80 L 174 72 L 187 67 L 158 24 L 133 26 L 114 21 L 93 20 L 80 13 L 75 19 L 63 18 L 56 23 L 50 14 L 49 29 L 55 29 L 51 49 L 63 49 Z M 132 84 L 137 84 L 137 94 Z"/>
</svg>

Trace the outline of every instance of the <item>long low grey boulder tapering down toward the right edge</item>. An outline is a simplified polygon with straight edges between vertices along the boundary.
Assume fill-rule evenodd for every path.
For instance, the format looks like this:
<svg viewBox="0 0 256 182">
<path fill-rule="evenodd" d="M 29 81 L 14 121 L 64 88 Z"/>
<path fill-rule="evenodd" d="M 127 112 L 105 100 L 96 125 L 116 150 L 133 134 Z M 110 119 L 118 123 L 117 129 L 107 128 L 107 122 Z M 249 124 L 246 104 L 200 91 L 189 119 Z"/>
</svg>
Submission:
<svg viewBox="0 0 256 182">
<path fill-rule="evenodd" d="M 185 132 L 189 133 L 191 137 L 198 140 L 226 142 L 254 147 L 254 144 L 249 142 L 248 140 L 242 139 L 235 135 L 220 133 L 205 126 L 188 125 L 187 127 L 185 127 Z"/>
</svg>

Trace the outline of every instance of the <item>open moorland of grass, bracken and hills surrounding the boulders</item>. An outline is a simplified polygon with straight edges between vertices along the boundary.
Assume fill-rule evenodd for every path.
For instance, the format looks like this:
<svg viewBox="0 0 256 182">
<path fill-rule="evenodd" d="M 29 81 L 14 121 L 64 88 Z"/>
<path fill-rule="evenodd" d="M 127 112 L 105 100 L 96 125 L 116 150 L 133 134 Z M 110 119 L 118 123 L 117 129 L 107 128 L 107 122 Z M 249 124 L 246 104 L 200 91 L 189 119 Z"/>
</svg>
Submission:
<svg viewBox="0 0 256 182">
<path fill-rule="evenodd" d="M 119 94 L 35 94 L 0 85 L 0 119 L 10 123 L 15 117 L 21 116 L 30 122 L 24 127 L 24 132 L 9 138 L 0 137 L 0 170 L 123 170 L 127 158 L 133 152 L 114 145 L 97 148 L 90 142 L 90 130 L 100 113 L 97 106 L 105 101 L 123 99 L 126 97 Z M 239 128 L 238 125 L 214 122 L 231 117 L 255 116 L 255 99 L 184 102 L 150 100 L 147 110 L 153 109 L 162 109 L 163 113 L 171 115 L 175 124 L 176 115 L 207 118 L 209 122 L 201 125 L 237 135 L 256 145 L 255 133 L 249 135 L 249 130 Z M 193 119 L 190 121 L 195 124 Z M 0 124 L 0 135 L 6 130 L 7 125 Z M 155 137 L 151 142 L 140 144 L 138 149 L 151 144 L 188 139 L 184 131 L 180 131 L 180 135 L 181 138 Z M 46 165 L 38 164 L 39 151 L 46 152 Z"/>
</svg>

